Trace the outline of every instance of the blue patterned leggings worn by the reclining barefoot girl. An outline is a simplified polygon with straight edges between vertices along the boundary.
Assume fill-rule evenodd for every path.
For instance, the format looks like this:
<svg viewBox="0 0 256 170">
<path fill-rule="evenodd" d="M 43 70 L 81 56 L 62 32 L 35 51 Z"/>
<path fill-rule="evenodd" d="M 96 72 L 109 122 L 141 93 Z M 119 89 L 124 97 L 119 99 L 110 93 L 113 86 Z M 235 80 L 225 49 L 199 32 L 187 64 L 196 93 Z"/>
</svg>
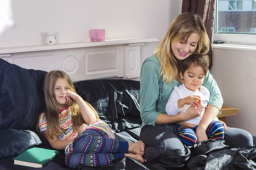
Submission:
<svg viewBox="0 0 256 170">
<path fill-rule="evenodd" d="M 96 167 L 111 165 L 113 159 L 128 153 L 128 142 L 108 138 L 99 129 L 87 129 L 81 132 L 73 141 L 73 151 L 65 158 L 67 167 L 76 168 L 77 165 Z"/>
</svg>

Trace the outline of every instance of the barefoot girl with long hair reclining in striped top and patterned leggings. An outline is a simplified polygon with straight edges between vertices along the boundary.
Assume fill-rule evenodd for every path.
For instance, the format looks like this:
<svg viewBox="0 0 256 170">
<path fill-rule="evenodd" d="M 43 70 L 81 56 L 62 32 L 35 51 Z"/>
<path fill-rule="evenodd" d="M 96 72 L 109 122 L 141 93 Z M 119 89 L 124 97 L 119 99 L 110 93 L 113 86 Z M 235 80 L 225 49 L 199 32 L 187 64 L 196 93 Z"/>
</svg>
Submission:
<svg viewBox="0 0 256 170">
<path fill-rule="evenodd" d="M 111 128 L 99 119 L 95 109 L 76 94 L 70 77 L 63 71 L 50 71 L 44 79 L 45 112 L 38 127 L 52 148 L 65 149 L 70 168 L 111 165 L 113 159 L 130 156 L 143 159 L 145 145 L 115 139 Z"/>
</svg>

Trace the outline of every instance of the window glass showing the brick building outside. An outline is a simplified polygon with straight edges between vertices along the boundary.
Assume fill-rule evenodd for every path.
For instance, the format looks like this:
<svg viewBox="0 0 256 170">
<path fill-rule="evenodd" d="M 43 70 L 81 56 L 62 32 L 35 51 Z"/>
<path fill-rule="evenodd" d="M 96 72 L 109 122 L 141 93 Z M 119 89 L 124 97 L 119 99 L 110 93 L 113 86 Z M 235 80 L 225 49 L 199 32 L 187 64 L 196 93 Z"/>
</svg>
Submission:
<svg viewBox="0 0 256 170">
<path fill-rule="evenodd" d="M 217 0 L 215 33 L 256 34 L 256 0 Z"/>
</svg>

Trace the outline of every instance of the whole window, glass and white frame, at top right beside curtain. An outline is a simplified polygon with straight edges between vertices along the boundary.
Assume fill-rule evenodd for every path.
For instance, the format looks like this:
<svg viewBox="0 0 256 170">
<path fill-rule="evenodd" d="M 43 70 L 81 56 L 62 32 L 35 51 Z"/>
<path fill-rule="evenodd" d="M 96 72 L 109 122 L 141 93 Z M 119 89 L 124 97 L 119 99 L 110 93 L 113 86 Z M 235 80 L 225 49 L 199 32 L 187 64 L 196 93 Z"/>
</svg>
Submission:
<svg viewBox="0 0 256 170">
<path fill-rule="evenodd" d="M 216 0 L 214 40 L 256 44 L 256 0 Z"/>
</svg>

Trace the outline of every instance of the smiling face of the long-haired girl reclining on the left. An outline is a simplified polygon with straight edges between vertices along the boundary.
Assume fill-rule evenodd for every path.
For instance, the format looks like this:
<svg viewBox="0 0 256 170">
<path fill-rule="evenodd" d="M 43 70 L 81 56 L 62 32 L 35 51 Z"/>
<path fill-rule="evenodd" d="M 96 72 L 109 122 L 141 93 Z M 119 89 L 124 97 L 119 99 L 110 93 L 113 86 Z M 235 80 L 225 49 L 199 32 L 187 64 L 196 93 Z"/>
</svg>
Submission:
<svg viewBox="0 0 256 170">
<path fill-rule="evenodd" d="M 70 87 L 66 84 L 64 79 L 58 78 L 54 88 L 55 99 L 57 100 L 57 102 L 60 104 L 66 104 L 67 103 L 66 94 L 69 91 L 70 91 Z"/>
</svg>

